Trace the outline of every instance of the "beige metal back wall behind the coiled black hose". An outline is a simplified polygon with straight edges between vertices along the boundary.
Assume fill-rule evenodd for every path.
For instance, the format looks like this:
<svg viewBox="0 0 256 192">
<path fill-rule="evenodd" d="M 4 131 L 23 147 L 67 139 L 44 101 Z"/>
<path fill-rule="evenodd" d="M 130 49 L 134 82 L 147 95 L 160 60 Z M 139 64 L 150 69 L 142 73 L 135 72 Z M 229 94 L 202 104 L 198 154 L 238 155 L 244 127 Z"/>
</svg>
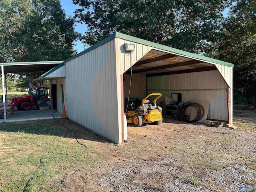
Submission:
<svg viewBox="0 0 256 192">
<path fill-rule="evenodd" d="M 210 100 L 207 118 L 228 121 L 228 85 L 218 70 L 148 77 L 148 94 L 162 93 L 159 101 L 172 92 L 182 101 Z"/>
</svg>

